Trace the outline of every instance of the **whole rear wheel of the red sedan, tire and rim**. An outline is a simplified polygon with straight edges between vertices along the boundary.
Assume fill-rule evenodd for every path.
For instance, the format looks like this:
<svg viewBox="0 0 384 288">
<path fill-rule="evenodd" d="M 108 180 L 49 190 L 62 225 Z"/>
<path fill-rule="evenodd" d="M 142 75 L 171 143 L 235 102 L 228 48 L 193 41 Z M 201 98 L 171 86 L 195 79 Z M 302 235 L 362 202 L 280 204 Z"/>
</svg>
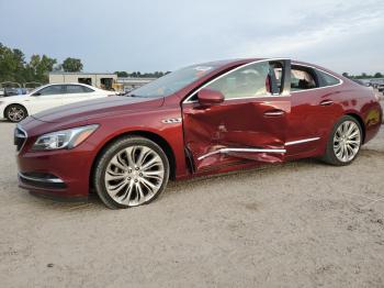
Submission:
<svg viewBox="0 0 384 288">
<path fill-rule="evenodd" d="M 352 163 L 362 144 L 362 128 L 350 115 L 342 117 L 334 126 L 327 143 L 324 160 L 331 165 L 343 166 Z"/>
</svg>

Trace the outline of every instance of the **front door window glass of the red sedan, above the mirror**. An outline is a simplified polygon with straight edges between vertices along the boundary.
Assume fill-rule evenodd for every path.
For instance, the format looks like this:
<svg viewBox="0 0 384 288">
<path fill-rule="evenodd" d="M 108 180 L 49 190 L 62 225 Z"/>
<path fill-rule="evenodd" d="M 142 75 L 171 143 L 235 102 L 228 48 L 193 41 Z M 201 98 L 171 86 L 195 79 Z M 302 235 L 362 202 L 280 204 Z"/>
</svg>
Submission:
<svg viewBox="0 0 384 288">
<path fill-rule="evenodd" d="M 256 63 L 213 81 L 206 88 L 221 91 L 225 99 L 267 96 L 271 95 L 267 88 L 269 73 L 268 62 Z"/>
</svg>

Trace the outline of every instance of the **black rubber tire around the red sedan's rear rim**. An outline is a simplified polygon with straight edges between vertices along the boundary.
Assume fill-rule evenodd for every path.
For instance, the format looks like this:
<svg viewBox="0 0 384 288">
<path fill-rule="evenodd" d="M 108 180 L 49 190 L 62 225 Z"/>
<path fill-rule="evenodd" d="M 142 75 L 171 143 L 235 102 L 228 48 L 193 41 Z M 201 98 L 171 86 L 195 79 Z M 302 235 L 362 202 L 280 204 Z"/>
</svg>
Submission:
<svg viewBox="0 0 384 288">
<path fill-rule="evenodd" d="M 351 158 L 350 160 L 342 162 L 336 156 L 336 152 L 335 152 L 335 148 L 334 148 L 334 139 L 335 139 L 335 134 L 336 134 L 337 130 L 347 121 L 351 121 L 351 122 L 355 123 L 357 126 L 359 128 L 360 144 L 359 144 L 359 147 L 358 147 L 358 152 L 354 154 L 353 158 Z M 362 133 L 362 128 L 361 128 L 359 121 L 355 118 L 353 118 L 353 117 L 343 115 L 334 125 L 334 129 L 332 129 L 331 133 L 329 134 L 329 139 L 328 139 L 328 142 L 327 142 L 326 154 L 323 156 L 321 159 L 325 163 L 328 163 L 328 164 L 334 165 L 334 166 L 346 166 L 346 165 L 349 165 L 359 155 L 359 152 L 360 152 L 360 148 L 361 148 L 361 145 L 362 145 L 362 141 L 363 141 L 363 133 Z"/>
</svg>

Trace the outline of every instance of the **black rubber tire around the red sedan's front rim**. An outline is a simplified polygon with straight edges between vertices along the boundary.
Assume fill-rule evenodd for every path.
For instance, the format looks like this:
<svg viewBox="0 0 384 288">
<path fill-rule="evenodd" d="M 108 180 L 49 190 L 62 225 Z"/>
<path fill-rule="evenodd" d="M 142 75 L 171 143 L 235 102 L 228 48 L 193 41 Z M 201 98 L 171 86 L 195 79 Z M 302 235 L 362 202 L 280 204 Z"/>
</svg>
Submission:
<svg viewBox="0 0 384 288">
<path fill-rule="evenodd" d="M 103 151 L 101 152 L 100 156 L 95 162 L 93 175 L 92 175 L 92 182 L 97 193 L 99 195 L 102 202 L 110 209 L 121 209 L 121 208 L 133 207 L 131 204 L 123 204 L 115 201 L 109 195 L 104 179 L 105 179 L 105 173 L 106 173 L 108 166 L 110 165 L 110 162 L 112 160 L 112 158 L 123 149 L 137 146 L 137 145 L 148 147 L 153 149 L 155 153 L 157 153 L 157 155 L 161 158 L 161 162 L 163 165 L 162 167 L 163 178 L 162 178 L 161 186 L 156 191 L 155 196 L 153 196 L 149 200 L 135 206 L 150 203 L 151 201 L 157 199 L 167 187 L 168 179 L 169 179 L 169 160 L 166 153 L 161 149 L 161 147 L 155 142 L 140 136 L 125 136 L 125 137 L 118 139 L 117 141 L 114 141 L 113 143 L 109 144 L 106 147 L 103 148 Z M 136 193 L 138 193 L 137 190 L 136 190 Z"/>
</svg>

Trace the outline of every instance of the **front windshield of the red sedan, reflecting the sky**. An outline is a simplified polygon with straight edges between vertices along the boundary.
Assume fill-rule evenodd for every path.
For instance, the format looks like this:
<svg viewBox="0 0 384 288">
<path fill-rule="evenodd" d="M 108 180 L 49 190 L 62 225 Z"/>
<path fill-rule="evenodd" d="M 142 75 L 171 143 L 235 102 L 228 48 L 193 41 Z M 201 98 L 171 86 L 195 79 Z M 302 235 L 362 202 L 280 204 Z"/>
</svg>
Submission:
<svg viewBox="0 0 384 288">
<path fill-rule="evenodd" d="M 192 84 L 199 78 L 202 78 L 221 65 L 223 65 L 223 63 L 217 62 L 189 66 L 142 86 L 140 88 L 128 92 L 126 96 L 147 98 L 169 96 Z"/>
</svg>

